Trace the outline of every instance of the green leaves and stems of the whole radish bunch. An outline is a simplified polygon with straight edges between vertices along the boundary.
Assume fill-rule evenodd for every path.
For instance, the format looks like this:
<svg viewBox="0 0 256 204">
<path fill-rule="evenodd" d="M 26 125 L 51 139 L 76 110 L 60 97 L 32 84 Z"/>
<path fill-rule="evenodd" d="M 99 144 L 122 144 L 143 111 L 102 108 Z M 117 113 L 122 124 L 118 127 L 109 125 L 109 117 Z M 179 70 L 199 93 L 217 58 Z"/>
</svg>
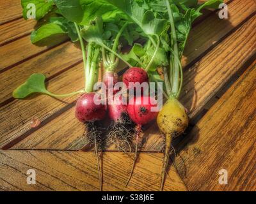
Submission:
<svg viewBox="0 0 256 204">
<path fill-rule="evenodd" d="M 22 0 L 21 3 L 24 18 L 28 18 L 33 4 L 36 20 L 45 19 L 45 23 L 31 34 L 32 43 L 58 34 L 67 34 L 72 41 L 80 41 L 84 75 L 88 79 L 85 86 L 89 87 L 86 91 L 92 91 L 97 79 L 101 52 L 107 69 L 115 69 L 118 59 L 122 59 L 128 66 L 145 68 L 153 82 L 162 80 L 157 75 L 157 68 L 170 66 L 164 71 L 168 74 L 164 77 L 168 78 L 166 91 L 169 96 L 178 98 L 182 86 L 180 59 L 191 24 L 202 15 L 202 9 L 218 8 L 222 0 L 209 0 L 204 4 L 196 0 Z M 54 15 L 46 18 L 49 11 Z M 134 43 L 138 38 L 146 43 Z M 83 40 L 88 42 L 87 57 Z M 122 44 L 133 47 L 127 54 L 118 54 Z M 31 75 L 13 96 L 24 98 L 33 92 L 58 96 L 45 89 L 44 80 L 44 75 Z"/>
</svg>

